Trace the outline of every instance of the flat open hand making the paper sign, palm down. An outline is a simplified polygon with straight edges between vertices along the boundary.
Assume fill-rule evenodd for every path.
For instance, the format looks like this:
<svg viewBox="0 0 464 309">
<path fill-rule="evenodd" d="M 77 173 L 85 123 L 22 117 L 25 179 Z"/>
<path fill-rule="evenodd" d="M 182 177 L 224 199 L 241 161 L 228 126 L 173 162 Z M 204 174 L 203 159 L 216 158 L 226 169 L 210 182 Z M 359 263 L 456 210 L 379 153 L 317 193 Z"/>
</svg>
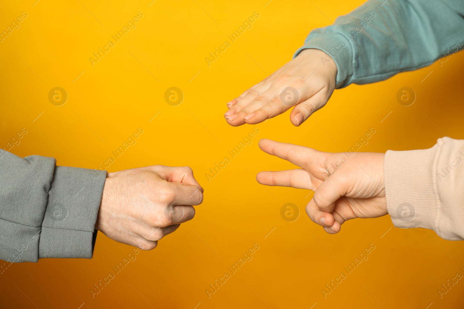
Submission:
<svg viewBox="0 0 464 309">
<path fill-rule="evenodd" d="M 335 89 L 337 66 L 321 50 L 305 49 L 271 76 L 227 103 L 224 117 L 231 126 L 257 124 L 283 114 L 292 106 L 281 100 L 287 87 L 296 88 L 299 100 L 293 104 L 290 121 L 300 126 L 323 107 Z"/>
</svg>

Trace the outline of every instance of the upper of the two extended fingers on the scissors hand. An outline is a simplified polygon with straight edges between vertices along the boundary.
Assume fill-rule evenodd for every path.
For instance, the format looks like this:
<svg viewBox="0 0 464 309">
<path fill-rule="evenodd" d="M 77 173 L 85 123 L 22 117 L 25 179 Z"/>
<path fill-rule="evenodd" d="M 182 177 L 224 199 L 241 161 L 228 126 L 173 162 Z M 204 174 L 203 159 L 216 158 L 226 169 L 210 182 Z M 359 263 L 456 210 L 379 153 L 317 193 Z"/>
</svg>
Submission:
<svg viewBox="0 0 464 309">
<path fill-rule="evenodd" d="M 323 154 L 323 152 L 312 148 L 279 143 L 271 139 L 261 139 L 259 141 L 259 148 L 270 155 L 290 161 L 291 163 L 303 168 L 308 165 L 309 158 L 314 161 L 317 156 Z"/>
</svg>

